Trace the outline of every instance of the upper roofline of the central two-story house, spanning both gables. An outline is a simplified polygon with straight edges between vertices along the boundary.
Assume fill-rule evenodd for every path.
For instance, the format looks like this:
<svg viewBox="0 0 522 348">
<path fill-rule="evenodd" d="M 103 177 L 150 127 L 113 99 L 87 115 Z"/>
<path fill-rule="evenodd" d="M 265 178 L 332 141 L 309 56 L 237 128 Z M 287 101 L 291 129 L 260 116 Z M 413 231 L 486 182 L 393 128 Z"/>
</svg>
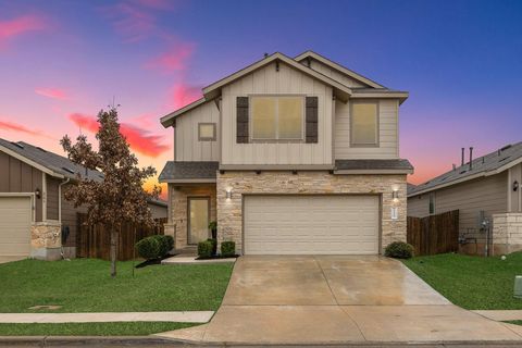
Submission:
<svg viewBox="0 0 522 348">
<path fill-rule="evenodd" d="M 300 61 L 304 60 L 307 57 L 312 57 L 330 66 L 333 69 L 336 69 L 340 71 L 341 73 L 365 84 L 369 86 L 368 88 L 353 88 L 353 87 L 348 87 L 345 84 L 328 77 L 326 75 L 321 74 L 320 72 L 308 67 L 306 64 L 300 63 Z M 327 60 L 326 58 L 312 52 L 312 51 L 307 51 L 302 54 L 299 54 L 296 59 L 291 59 L 281 52 L 275 52 L 271 55 L 268 55 L 253 64 L 250 64 L 207 87 L 203 88 L 203 97 L 196 100 L 192 103 L 189 103 L 188 105 L 185 105 L 174 112 L 171 112 L 170 114 L 163 116 L 160 119 L 161 124 L 164 127 L 170 127 L 174 124 L 174 120 L 185 113 L 187 113 L 190 110 L 194 110 L 198 108 L 199 105 L 203 104 L 204 102 L 214 100 L 219 96 L 221 96 L 221 88 L 224 86 L 233 83 L 234 80 L 241 78 L 245 75 L 248 75 L 252 72 L 254 72 L 258 69 L 261 69 L 263 66 L 266 66 L 268 64 L 272 62 L 283 62 L 288 64 L 289 66 L 315 78 L 321 80 L 322 83 L 332 86 L 334 88 L 335 95 L 337 98 L 339 98 L 343 101 L 348 100 L 348 98 L 394 98 L 394 99 L 399 99 L 400 102 L 402 103 L 407 98 L 408 98 L 408 92 L 407 91 L 401 91 L 401 90 L 391 90 L 388 89 L 360 74 L 357 74 L 349 69 L 344 67 L 340 64 L 337 64 L 331 60 Z"/>
</svg>

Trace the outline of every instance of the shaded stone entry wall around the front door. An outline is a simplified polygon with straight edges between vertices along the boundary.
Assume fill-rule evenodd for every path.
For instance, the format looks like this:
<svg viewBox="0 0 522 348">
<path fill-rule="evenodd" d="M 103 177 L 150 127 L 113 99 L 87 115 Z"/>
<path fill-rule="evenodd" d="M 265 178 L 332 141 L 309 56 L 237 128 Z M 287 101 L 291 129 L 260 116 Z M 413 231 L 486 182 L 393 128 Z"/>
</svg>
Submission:
<svg viewBox="0 0 522 348">
<path fill-rule="evenodd" d="M 172 186 L 171 186 L 172 185 Z M 189 197 L 210 197 L 210 221 L 216 220 L 215 184 L 170 184 L 172 222 L 165 224 L 165 234 L 174 237 L 174 248 L 187 246 L 187 203 Z"/>
</svg>

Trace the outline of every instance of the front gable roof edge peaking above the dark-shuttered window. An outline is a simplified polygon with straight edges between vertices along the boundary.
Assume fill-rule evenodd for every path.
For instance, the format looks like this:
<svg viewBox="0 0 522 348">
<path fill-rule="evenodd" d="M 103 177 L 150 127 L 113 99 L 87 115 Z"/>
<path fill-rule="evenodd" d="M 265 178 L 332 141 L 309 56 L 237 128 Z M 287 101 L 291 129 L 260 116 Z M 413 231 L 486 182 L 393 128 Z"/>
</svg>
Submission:
<svg viewBox="0 0 522 348">
<path fill-rule="evenodd" d="M 319 79 L 320 82 L 322 82 L 326 85 L 330 85 L 330 86 L 334 87 L 334 89 L 338 92 L 338 97 L 340 97 L 341 100 L 346 100 L 346 99 L 348 99 L 349 96 L 351 96 L 351 89 L 349 87 L 340 84 L 339 82 L 337 82 L 337 80 L 335 80 L 335 79 L 333 79 L 328 76 L 325 76 L 325 75 L 314 71 L 313 69 L 310 69 L 308 66 L 304 66 L 303 64 L 300 64 L 300 63 L 296 62 L 291 58 L 289 58 L 289 57 L 287 57 L 287 55 L 285 55 L 281 52 L 275 52 L 271 55 L 268 55 L 268 57 L 257 61 L 253 64 L 248 65 L 247 67 L 241 69 L 240 71 L 235 72 L 232 75 L 228 75 L 228 76 L 213 83 L 212 85 L 209 85 L 209 86 L 204 87 L 203 88 L 204 98 L 206 99 L 213 99 L 213 98 L 220 96 L 220 94 L 221 94 L 220 90 L 221 90 L 222 87 L 233 83 L 234 80 L 236 80 L 238 78 L 241 78 L 245 75 L 248 75 L 248 74 L 257 71 L 258 69 L 266 66 L 274 61 L 284 62 L 284 63 L 290 65 L 291 67 L 302 72 L 303 74 L 307 74 L 307 75 L 309 75 L 309 76 L 311 76 L 315 79 Z"/>
</svg>

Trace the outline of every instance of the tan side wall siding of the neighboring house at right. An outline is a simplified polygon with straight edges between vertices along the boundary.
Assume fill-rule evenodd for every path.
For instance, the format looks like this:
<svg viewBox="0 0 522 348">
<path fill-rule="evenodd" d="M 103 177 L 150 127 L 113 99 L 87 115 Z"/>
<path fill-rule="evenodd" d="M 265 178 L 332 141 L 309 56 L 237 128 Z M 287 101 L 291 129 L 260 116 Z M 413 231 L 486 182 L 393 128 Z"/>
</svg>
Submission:
<svg viewBox="0 0 522 348">
<path fill-rule="evenodd" d="M 493 222 L 492 215 L 505 213 L 508 209 L 508 172 L 475 178 L 457 185 L 435 190 L 435 214 L 459 210 L 459 229 L 477 232 L 480 214 Z M 424 217 L 428 215 L 430 192 L 422 197 L 408 199 L 408 215 Z"/>
</svg>

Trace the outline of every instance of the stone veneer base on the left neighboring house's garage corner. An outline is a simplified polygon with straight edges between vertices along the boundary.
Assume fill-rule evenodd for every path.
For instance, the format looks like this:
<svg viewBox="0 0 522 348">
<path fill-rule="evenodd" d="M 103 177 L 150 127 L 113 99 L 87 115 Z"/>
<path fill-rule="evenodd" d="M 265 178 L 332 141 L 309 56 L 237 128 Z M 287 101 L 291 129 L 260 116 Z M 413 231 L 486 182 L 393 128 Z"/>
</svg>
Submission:
<svg viewBox="0 0 522 348">
<path fill-rule="evenodd" d="M 62 233 L 60 223 L 37 222 L 30 227 L 30 256 L 40 260 L 61 258 Z"/>
</svg>

